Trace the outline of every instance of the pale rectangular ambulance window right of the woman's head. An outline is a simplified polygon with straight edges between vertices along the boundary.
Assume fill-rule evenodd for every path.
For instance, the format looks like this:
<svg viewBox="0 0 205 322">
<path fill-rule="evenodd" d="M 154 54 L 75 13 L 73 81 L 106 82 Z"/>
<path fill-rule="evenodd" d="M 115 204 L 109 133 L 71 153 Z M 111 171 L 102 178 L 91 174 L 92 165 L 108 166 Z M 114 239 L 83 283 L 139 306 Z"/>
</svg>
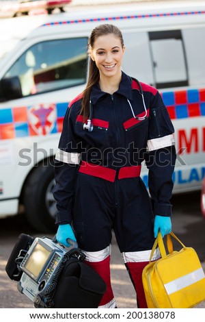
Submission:
<svg viewBox="0 0 205 322">
<path fill-rule="evenodd" d="M 156 88 L 188 85 L 187 60 L 180 30 L 150 32 Z"/>
</svg>

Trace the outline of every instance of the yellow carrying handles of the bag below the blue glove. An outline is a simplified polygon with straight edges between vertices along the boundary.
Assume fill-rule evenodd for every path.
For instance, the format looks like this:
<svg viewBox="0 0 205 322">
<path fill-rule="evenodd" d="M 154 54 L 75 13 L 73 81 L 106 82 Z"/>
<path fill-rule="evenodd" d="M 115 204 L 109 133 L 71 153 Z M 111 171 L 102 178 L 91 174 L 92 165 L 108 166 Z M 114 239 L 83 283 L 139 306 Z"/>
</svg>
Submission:
<svg viewBox="0 0 205 322">
<path fill-rule="evenodd" d="M 171 232 L 170 234 L 167 234 L 167 249 L 169 251 L 169 253 L 172 253 L 173 252 L 173 244 L 172 244 L 172 237 L 174 237 L 174 239 L 176 239 L 178 241 L 178 243 L 180 243 L 180 245 L 182 245 L 182 247 L 185 249 L 187 248 L 177 237 L 176 235 L 174 234 L 174 232 Z M 157 247 L 157 245 L 159 245 L 159 250 L 160 250 L 160 253 L 161 253 L 161 257 L 162 258 L 165 258 L 167 256 L 167 253 L 166 253 L 166 250 L 165 250 L 165 245 L 163 243 L 163 238 L 161 236 L 161 232 L 158 233 L 156 239 L 154 240 L 154 245 L 152 247 L 152 251 L 151 251 L 151 254 L 150 254 L 150 262 L 152 260 L 152 256 L 154 255 L 154 251 Z"/>
</svg>

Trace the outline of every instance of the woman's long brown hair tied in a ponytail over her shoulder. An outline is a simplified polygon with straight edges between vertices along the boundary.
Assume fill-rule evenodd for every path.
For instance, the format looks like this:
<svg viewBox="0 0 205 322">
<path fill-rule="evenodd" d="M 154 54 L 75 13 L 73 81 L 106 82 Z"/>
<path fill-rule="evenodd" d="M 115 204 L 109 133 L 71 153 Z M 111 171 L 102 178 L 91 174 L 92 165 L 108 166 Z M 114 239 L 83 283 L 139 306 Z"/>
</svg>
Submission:
<svg viewBox="0 0 205 322">
<path fill-rule="evenodd" d="M 105 36 L 107 34 L 113 34 L 114 36 L 118 37 L 120 39 L 122 47 L 124 47 L 124 40 L 122 38 L 122 32 L 120 31 L 120 29 L 115 25 L 105 23 L 103 25 L 98 25 L 92 30 L 92 33 L 87 43 L 87 52 L 90 53 L 92 51 L 96 38 L 100 36 Z M 90 59 L 88 80 L 86 88 L 83 91 L 83 101 L 81 108 L 81 114 L 83 114 L 84 121 L 85 119 L 87 119 L 87 117 L 89 117 L 89 101 L 91 88 L 92 86 L 94 86 L 94 84 L 98 83 L 99 79 L 100 73 L 98 71 L 98 67 L 96 66 L 96 62 Z"/>
</svg>

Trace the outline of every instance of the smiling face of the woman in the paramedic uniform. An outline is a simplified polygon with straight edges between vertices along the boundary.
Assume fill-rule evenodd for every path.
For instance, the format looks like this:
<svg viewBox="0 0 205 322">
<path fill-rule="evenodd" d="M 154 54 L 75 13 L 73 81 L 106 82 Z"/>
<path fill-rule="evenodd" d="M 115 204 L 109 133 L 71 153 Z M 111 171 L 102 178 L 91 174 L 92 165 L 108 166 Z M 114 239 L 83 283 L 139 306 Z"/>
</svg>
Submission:
<svg viewBox="0 0 205 322">
<path fill-rule="evenodd" d="M 107 34 L 96 38 L 90 57 L 96 62 L 100 78 L 121 76 L 123 54 L 124 47 L 115 35 Z"/>
</svg>

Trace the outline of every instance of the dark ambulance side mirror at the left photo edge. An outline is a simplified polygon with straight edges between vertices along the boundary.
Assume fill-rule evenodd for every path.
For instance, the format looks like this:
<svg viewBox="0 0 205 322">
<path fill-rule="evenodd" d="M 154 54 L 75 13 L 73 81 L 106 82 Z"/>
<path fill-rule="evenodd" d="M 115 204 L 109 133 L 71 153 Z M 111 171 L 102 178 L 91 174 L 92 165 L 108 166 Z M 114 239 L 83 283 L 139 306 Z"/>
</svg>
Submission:
<svg viewBox="0 0 205 322">
<path fill-rule="evenodd" d="M 10 101 L 23 97 L 18 76 L 7 77 L 0 80 L 0 101 Z"/>
</svg>

